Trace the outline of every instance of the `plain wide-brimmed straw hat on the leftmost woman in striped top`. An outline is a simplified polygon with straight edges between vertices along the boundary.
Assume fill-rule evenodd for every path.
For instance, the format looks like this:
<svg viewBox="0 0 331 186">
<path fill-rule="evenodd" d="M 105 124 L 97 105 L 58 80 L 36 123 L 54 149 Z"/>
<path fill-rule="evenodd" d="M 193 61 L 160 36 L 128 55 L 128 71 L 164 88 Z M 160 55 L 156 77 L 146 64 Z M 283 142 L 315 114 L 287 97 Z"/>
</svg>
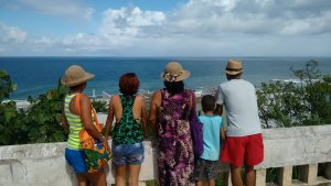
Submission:
<svg viewBox="0 0 331 186">
<path fill-rule="evenodd" d="M 85 83 L 94 77 L 93 74 L 86 73 L 81 66 L 72 65 L 66 70 L 61 79 L 61 84 L 66 87 L 73 87 Z"/>
</svg>

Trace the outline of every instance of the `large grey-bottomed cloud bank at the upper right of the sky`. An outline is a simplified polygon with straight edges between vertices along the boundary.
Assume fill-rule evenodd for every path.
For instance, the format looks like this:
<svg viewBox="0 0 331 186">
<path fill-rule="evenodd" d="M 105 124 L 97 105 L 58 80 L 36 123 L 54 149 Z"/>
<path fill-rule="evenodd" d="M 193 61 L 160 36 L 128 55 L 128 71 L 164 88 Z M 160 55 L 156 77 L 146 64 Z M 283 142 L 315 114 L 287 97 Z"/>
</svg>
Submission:
<svg viewBox="0 0 331 186">
<path fill-rule="evenodd" d="M 170 17 L 167 28 L 192 36 L 330 33 L 331 3 L 329 9 L 313 3 L 316 9 L 308 9 L 309 0 L 191 0 Z"/>
</svg>

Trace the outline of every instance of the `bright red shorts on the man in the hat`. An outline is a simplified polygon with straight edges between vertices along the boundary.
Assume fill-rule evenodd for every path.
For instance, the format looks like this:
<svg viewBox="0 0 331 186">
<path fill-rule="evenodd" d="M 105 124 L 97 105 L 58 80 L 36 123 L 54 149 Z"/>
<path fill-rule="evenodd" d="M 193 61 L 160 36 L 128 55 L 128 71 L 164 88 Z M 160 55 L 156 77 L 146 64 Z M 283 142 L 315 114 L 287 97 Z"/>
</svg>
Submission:
<svg viewBox="0 0 331 186">
<path fill-rule="evenodd" d="M 247 136 L 226 136 L 221 160 L 235 166 L 257 165 L 264 160 L 264 143 L 261 133 Z"/>
</svg>

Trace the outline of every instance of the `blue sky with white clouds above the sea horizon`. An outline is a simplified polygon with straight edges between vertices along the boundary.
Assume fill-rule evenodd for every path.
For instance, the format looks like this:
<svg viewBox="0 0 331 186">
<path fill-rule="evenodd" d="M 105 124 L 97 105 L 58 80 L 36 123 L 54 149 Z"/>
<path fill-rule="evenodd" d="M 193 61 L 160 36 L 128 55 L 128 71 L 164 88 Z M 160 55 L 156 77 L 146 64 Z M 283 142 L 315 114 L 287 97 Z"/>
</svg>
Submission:
<svg viewBox="0 0 331 186">
<path fill-rule="evenodd" d="M 0 0 L 0 56 L 331 56 L 331 0 Z"/>
</svg>

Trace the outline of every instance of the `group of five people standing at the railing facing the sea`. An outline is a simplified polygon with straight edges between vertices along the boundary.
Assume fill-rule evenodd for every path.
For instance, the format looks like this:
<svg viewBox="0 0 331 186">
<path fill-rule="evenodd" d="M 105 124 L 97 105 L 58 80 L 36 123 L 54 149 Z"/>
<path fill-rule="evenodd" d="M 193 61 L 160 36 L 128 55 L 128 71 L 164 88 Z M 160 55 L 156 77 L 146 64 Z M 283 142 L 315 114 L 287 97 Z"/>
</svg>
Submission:
<svg viewBox="0 0 331 186">
<path fill-rule="evenodd" d="M 65 150 L 66 162 L 74 168 L 79 186 L 92 183 L 104 186 L 106 175 L 100 168 L 87 173 L 78 132 L 85 129 L 113 152 L 115 182 L 125 186 L 138 185 L 141 163 L 145 158 L 143 140 L 153 129 L 158 142 L 158 168 L 160 186 L 215 185 L 220 173 L 220 161 L 231 165 L 232 183 L 242 186 L 242 165 L 245 166 L 246 186 L 255 185 L 254 165 L 264 158 L 260 121 L 255 87 L 241 78 L 242 62 L 231 59 L 225 68 L 228 81 L 218 86 L 215 95 L 202 97 L 203 153 L 194 155 L 189 116 L 195 109 L 194 92 L 184 86 L 190 72 L 180 63 L 170 62 L 161 74 L 164 88 L 156 90 L 150 101 L 149 116 L 142 96 L 138 95 L 139 79 L 134 73 L 119 78 L 119 95 L 111 96 L 104 135 L 94 128 L 93 106 L 87 96 L 81 96 L 87 80 L 94 75 L 79 66 L 71 66 L 62 78 L 70 87 L 65 98 L 62 123 L 70 131 Z M 76 109 L 77 101 L 81 111 Z M 227 127 L 223 125 L 223 106 Z M 114 129 L 111 129 L 115 123 Z M 110 135 L 111 133 L 111 135 Z M 113 139 L 111 149 L 108 140 Z M 222 150 L 221 150 L 221 146 Z M 129 175 L 127 175 L 127 172 Z"/>
</svg>

